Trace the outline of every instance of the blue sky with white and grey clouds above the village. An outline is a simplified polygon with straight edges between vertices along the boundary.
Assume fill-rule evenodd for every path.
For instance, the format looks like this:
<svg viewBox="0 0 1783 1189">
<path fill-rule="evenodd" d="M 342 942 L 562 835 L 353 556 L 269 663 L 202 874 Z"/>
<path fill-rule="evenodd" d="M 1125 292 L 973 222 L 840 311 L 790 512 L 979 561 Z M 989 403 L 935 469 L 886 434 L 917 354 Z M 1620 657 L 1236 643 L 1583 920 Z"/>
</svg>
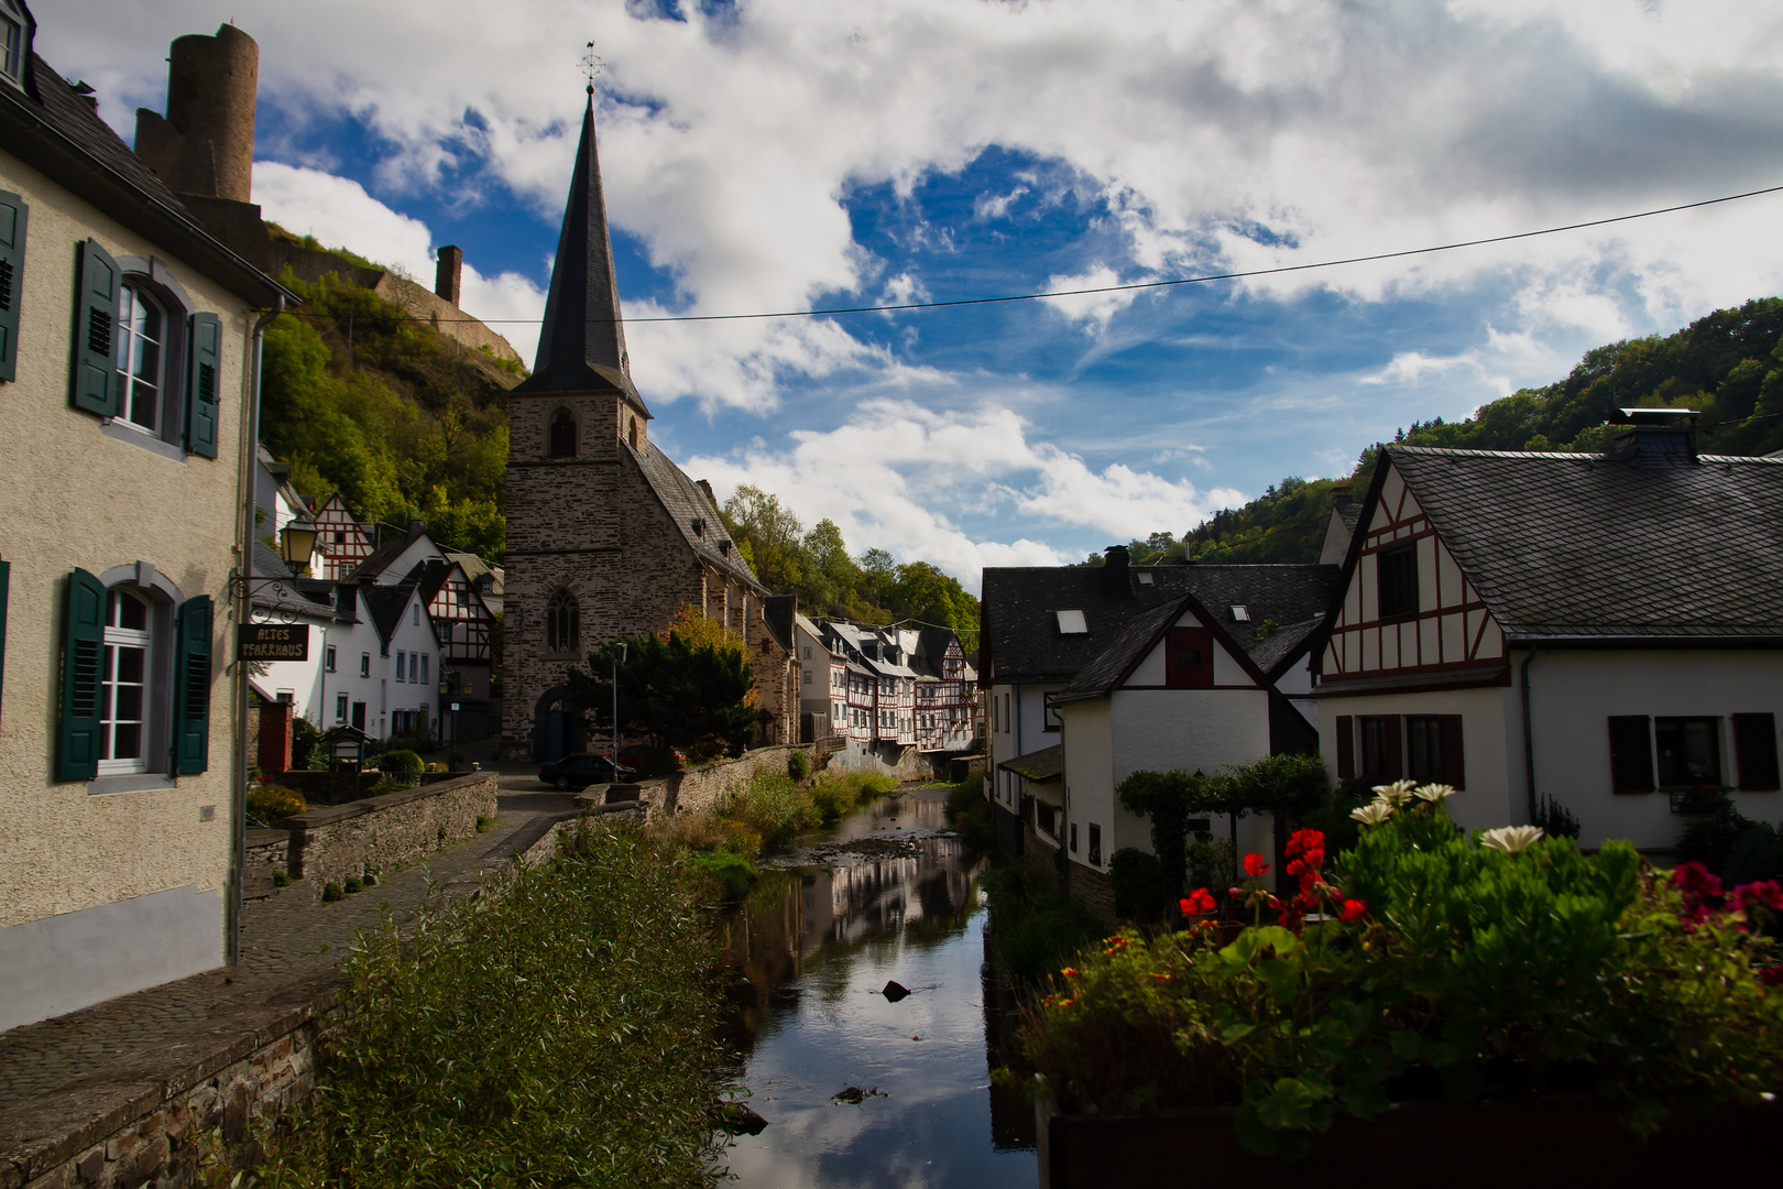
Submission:
<svg viewBox="0 0 1783 1189">
<path fill-rule="evenodd" d="M 653 440 L 854 551 L 1054 565 L 1783 292 L 1762 0 L 57 0 L 37 52 L 128 141 L 177 36 L 260 45 L 253 200 L 537 344 L 592 39 Z M 501 321 L 494 319 L 519 319 Z M 533 319 L 530 324 L 526 319 Z"/>
</svg>

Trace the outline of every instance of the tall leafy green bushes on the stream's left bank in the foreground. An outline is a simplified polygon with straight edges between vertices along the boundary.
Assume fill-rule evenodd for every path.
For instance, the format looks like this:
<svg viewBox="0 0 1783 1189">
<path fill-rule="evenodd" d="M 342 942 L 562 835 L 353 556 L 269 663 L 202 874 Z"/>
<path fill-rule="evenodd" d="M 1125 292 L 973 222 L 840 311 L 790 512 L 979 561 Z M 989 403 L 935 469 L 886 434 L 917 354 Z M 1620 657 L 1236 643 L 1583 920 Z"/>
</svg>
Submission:
<svg viewBox="0 0 1783 1189">
<path fill-rule="evenodd" d="M 323 1093 L 262 1185 L 708 1182 L 726 1054 L 686 857 L 585 824 L 490 879 L 349 954 Z"/>
</svg>

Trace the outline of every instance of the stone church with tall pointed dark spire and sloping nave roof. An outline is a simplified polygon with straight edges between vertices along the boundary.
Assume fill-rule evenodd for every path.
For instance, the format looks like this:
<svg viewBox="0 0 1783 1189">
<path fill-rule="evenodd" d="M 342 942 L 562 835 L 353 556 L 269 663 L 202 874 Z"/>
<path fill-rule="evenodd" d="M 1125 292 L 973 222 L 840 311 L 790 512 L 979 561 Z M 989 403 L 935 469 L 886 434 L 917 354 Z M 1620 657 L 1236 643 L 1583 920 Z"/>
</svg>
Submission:
<svg viewBox="0 0 1783 1189">
<path fill-rule="evenodd" d="M 683 606 L 747 642 L 760 740 L 795 740 L 795 597 L 768 595 L 711 487 L 651 446 L 651 412 L 631 383 L 592 87 L 538 360 L 508 392 L 508 421 L 503 754 L 599 750 L 562 701 L 565 670 L 613 636 L 661 631 Z"/>
</svg>

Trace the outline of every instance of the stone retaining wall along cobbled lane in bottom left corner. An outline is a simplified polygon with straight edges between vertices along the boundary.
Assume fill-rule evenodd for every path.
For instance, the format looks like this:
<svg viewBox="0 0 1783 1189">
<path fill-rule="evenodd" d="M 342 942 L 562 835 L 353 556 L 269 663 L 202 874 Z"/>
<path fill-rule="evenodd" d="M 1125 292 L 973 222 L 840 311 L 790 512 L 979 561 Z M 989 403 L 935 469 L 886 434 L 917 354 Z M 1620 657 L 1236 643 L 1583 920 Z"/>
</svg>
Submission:
<svg viewBox="0 0 1783 1189">
<path fill-rule="evenodd" d="M 316 975 L 141 1068 L 7 1112 L 0 1189 L 185 1189 L 219 1139 L 251 1159 L 255 1132 L 314 1089 L 339 1013 L 341 975 Z"/>
</svg>

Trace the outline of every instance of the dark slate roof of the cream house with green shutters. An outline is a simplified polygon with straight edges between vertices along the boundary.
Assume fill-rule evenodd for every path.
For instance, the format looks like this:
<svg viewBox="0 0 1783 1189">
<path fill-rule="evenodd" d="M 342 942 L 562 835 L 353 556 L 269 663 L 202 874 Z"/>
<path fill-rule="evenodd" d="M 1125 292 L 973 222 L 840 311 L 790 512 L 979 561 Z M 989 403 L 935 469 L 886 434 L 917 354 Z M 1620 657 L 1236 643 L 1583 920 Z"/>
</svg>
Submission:
<svg viewBox="0 0 1783 1189">
<path fill-rule="evenodd" d="M 266 307 L 283 296 L 287 305 L 298 305 L 296 294 L 200 226 L 100 119 L 89 96 L 75 91 L 36 52 L 29 62 L 25 91 L 0 86 L 0 150 L 41 169 L 157 248 L 177 253 L 239 298 Z"/>
</svg>

